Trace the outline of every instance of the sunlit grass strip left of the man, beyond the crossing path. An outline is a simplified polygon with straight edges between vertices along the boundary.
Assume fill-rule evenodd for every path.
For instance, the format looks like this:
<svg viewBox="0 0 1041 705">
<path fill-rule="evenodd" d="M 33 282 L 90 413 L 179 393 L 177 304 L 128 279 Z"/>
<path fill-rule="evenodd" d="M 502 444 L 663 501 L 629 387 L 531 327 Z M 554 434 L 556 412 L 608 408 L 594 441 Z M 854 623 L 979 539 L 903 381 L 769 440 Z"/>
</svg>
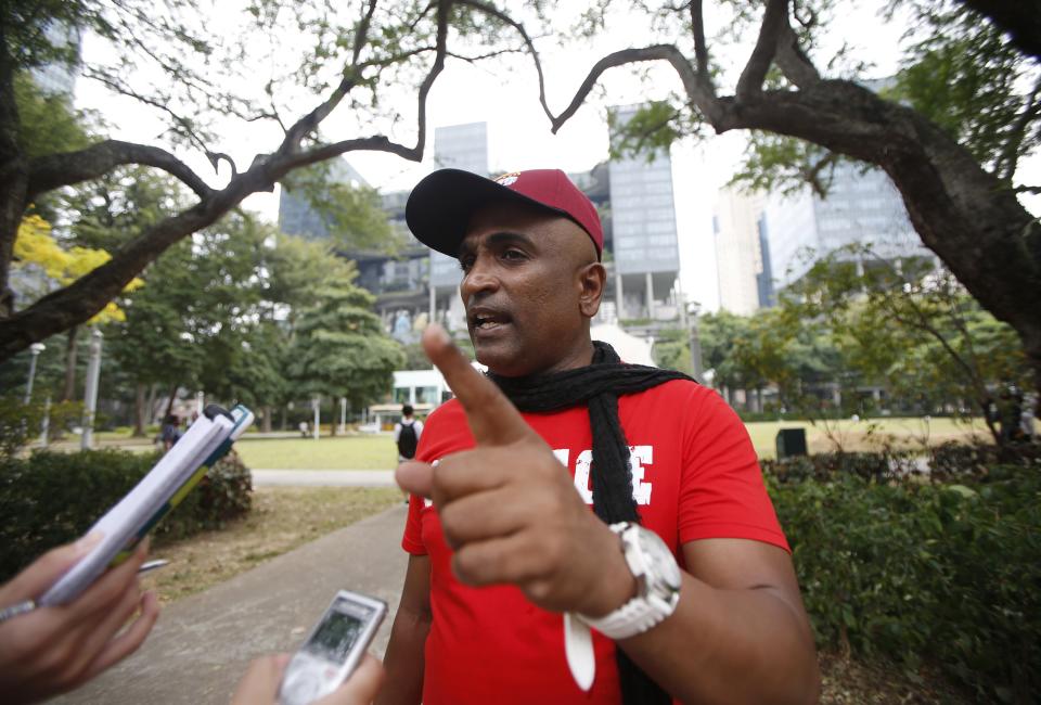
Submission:
<svg viewBox="0 0 1041 705">
<path fill-rule="evenodd" d="M 267 470 L 393 470 L 398 451 L 389 435 L 242 438 L 235 450 L 248 467 Z"/>
</svg>

